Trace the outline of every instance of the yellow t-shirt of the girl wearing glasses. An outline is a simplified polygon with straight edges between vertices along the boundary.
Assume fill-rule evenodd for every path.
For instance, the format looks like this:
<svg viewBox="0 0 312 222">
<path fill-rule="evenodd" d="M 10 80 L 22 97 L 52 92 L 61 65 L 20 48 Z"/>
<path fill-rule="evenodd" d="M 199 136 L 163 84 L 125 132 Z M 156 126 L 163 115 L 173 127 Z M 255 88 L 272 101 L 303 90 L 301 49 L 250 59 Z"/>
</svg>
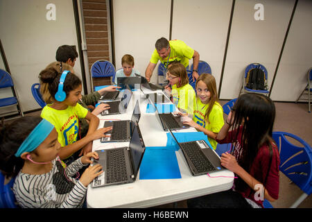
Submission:
<svg viewBox="0 0 312 222">
<path fill-rule="evenodd" d="M 172 86 L 172 102 L 177 108 L 193 114 L 194 105 L 196 104 L 196 93 L 191 85 L 187 83 L 182 87 Z"/>
</svg>

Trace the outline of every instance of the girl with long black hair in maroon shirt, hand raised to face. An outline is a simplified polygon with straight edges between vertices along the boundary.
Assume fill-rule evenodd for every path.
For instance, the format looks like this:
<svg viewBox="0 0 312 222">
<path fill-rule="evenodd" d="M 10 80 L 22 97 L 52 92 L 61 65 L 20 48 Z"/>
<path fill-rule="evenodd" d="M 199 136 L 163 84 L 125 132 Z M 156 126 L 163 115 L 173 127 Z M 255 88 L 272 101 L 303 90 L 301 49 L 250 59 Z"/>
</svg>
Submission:
<svg viewBox="0 0 312 222">
<path fill-rule="evenodd" d="M 272 139 L 275 105 L 268 96 L 243 94 L 227 116 L 216 140 L 234 143 L 221 165 L 233 171 L 234 189 L 189 200 L 189 207 L 263 207 L 279 194 L 279 151 Z M 229 128 L 232 130 L 229 131 Z"/>
</svg>

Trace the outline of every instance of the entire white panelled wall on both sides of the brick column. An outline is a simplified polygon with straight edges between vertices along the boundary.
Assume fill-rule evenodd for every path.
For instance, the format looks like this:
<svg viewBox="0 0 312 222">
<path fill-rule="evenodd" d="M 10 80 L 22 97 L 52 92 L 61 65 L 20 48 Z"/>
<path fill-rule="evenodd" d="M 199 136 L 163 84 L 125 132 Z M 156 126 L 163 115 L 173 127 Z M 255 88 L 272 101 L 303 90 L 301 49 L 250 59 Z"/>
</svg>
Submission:
<svg viewBox="0 0 312 222">
<path fill-rule="evenodd" d="M 46 20 L 48 3 L 55 3 L 56 21 Z M 116 69 L 121 68 L 121 57 L 130 53 L 135 57 L 135 68 L 144 74 L 155 41 L 169 37 L 171 0 L 113 3 Z M 263 21 L 254 20 L 256 3 L 264 6 Z M 271 85 L 294 3 L 295 0 L 236 1 L 220 99 L 238 96 L 243 71 L 251 62 L 260 62 L 268 69 Z M 306 71 L 312 66 L 311 4 L 309 0 L 298 1 L 272 88 L 273 100 L 295 101 L 306 84 Z M 171 38 L 183 40 L 200 53 L 200 59 L 211 66 L 217 85 L 231 7 L 232 0 L 173 1 Z M 72 1 L 0 0 L 0 38 L 23 110 L 40 108 L 31 95 L 31 85 L 39 82 L 38 74 L 55 60 L 58 46 L 71 44 L 78 49 Z M 78 76 L 79 59 L 74 68 Z M 0 65 L 4 69 L 2 61 Z M 157 81 L 157 69 L 152 81 Z"/>
</svg>

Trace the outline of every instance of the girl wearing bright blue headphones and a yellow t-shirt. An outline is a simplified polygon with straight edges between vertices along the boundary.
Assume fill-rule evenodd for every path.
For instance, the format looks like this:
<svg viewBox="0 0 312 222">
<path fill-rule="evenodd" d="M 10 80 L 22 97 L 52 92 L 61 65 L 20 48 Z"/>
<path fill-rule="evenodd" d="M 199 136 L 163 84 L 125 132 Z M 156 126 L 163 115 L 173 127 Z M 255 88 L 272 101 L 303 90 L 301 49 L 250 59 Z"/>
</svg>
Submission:
<svg viewBox="0 0 312 222">
<path fill-rule="evenodd" d="M 80 78 L 69 71 L 59 74 L 58 70 L 51 67 L 40 72 L 40 80 L 42 83 L 49 84 L 49 93 L 53 98 L 53 103 L 43 108 L 41 117 L 52 123 L 58 132 L 58 142 L 62 146 L 59 153 L 60 158 L 67 162 L 65 159 L 80 149 L 79 156 L 89 153 L 92 150 L 92 140 L 87 136 L 98 128 L 99 119 L 78 104 L 82 90 Z M 64 95 L 60 99 L 58 96 L 62 91 Z M 89 121 L 87 135 L 83 138 L 79 135 L 78 119 Z M 109 129 L 106 128 L 106 130 Z"/>
</svg>

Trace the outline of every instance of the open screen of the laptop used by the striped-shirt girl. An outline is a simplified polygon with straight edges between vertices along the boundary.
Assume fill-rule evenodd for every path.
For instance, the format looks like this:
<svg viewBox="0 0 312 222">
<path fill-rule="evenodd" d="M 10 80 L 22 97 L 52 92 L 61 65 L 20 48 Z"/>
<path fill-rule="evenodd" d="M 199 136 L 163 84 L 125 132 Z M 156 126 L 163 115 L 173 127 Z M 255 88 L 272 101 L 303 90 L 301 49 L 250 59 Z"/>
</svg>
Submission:
<svg viewBox="0 0 312 222">
<path fill-rule="evenodd" d="M 143 153 L 145 150 L 144 143 L 141 142 L 141 138 L 139 136 L 139 132 L 137 130 L 137 126 L 135 126 L 135 129 L 133 130 L 133 134 L 130 140 L 130 150 L 132 155 L 132 163 L 134 164 L 133 170 L 135 173 L 135 176 L 137 176 L 137 172 L 139 171 L 141 159 L 143 157 Z"/>
</svg>

